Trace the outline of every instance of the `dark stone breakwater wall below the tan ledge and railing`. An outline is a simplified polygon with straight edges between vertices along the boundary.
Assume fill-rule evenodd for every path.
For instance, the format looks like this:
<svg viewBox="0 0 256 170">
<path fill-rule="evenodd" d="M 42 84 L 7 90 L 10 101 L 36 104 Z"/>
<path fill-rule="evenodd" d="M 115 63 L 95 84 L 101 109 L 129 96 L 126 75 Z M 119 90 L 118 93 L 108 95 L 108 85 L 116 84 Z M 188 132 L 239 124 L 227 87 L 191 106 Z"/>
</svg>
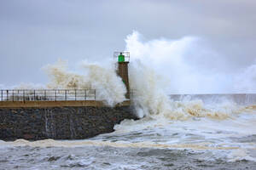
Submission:
<svg viewBox="0 0 256 170">
<path fill-rule="evenodd" d="M 86 139 L 137 119 L 131 106 L 0 108 L 0 139 Z"/>
</svg>

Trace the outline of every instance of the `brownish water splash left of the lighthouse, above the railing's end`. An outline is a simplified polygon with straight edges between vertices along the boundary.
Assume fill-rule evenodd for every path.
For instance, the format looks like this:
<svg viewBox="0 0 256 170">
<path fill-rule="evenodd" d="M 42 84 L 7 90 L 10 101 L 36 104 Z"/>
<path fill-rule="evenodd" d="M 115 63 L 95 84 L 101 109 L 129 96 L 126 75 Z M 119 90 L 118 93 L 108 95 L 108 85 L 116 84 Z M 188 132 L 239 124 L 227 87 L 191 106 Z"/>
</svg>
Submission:
<svg viewBox="0 0 256 170">
<path fill-rule="evenodd" d="M 50 82 L 48 88 L 96 89 L 96 99 L 114 106 L 125 100 L 126 88 L 117 76 L 113 65 L 82 63 L 81 73 L 67 70 L 67 62 L 60 60 L 55 65 L 47 65 Z"/>
</svg>

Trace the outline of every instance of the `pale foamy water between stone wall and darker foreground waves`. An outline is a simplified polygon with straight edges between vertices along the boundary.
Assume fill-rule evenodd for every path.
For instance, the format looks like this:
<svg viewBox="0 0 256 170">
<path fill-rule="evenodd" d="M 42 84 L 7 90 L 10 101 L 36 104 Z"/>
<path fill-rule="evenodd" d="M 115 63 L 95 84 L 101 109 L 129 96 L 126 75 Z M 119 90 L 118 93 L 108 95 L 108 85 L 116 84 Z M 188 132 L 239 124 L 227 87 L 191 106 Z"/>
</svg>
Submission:
<svg viewBox="0 0 256 170">
<path fill-rule="evenodd" d="M 118 148 L 152 148 L 195 150 L 211 152 L 214 159 L 228 161 L 255 160 L 250 150 L 256 150 L 253 141 L 237 141 L 246 139 L 256 133 L 253 125 L 256 112 L 241 113 L 236 117 L 224 120 L 200 117 L 186 121 L 163 121 L 148 116 L 138 121 L 125 120 L 116 125 L 115 132 L 99 135 L 93 139 L 54 140 L 45 139 L 27 141 L 17 139 L 14 142 L 0 142 L 0 147 L 32 146 L 32 147 L 118 147 Z M 246 129 L 246 130 L 245 130 Z M 205 159 L 212 159 L 206 157 Z"/>
</svg>

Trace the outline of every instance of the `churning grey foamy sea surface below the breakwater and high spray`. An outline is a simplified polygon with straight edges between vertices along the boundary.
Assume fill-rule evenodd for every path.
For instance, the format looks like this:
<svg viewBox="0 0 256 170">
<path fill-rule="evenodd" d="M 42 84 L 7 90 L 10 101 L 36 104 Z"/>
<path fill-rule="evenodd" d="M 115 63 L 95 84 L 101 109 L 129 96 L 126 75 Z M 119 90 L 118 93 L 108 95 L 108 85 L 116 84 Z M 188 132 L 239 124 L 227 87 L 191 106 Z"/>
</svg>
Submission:
<svg viewBox="0 0 256 170">
<path fill-rule="evenodd" d="M 253 96 L 172 96 L 179 114 L 148 112 L 91 139 L 1 141 L 0 169 L 256 169 Z"/>
</svg>

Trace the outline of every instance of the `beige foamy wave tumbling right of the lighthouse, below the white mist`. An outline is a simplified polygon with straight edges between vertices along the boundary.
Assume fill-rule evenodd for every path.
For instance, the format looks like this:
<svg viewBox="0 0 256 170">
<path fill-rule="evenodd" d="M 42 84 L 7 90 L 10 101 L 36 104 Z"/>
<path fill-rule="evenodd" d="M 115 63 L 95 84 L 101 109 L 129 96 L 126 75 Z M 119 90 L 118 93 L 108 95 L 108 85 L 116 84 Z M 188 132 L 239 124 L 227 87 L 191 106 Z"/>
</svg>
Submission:
<svg viewBox="0 0 256 170">
<path fill-rule="evenodd" d="M 223 99 L 221 103 L 207 101 L 208 104 L 201 99 L 184 98 L 182 101 L 173 101 L 166 92 L 166 81 L 161 80 L 152 68 L 140 61 L 131 63 L 130 80 L 131 88 L 136 88 L 132 100 L 140 117 L 186 120 L 207 116 L 224 119 L 242 109 L 228 99 Z"/>
</svg>

